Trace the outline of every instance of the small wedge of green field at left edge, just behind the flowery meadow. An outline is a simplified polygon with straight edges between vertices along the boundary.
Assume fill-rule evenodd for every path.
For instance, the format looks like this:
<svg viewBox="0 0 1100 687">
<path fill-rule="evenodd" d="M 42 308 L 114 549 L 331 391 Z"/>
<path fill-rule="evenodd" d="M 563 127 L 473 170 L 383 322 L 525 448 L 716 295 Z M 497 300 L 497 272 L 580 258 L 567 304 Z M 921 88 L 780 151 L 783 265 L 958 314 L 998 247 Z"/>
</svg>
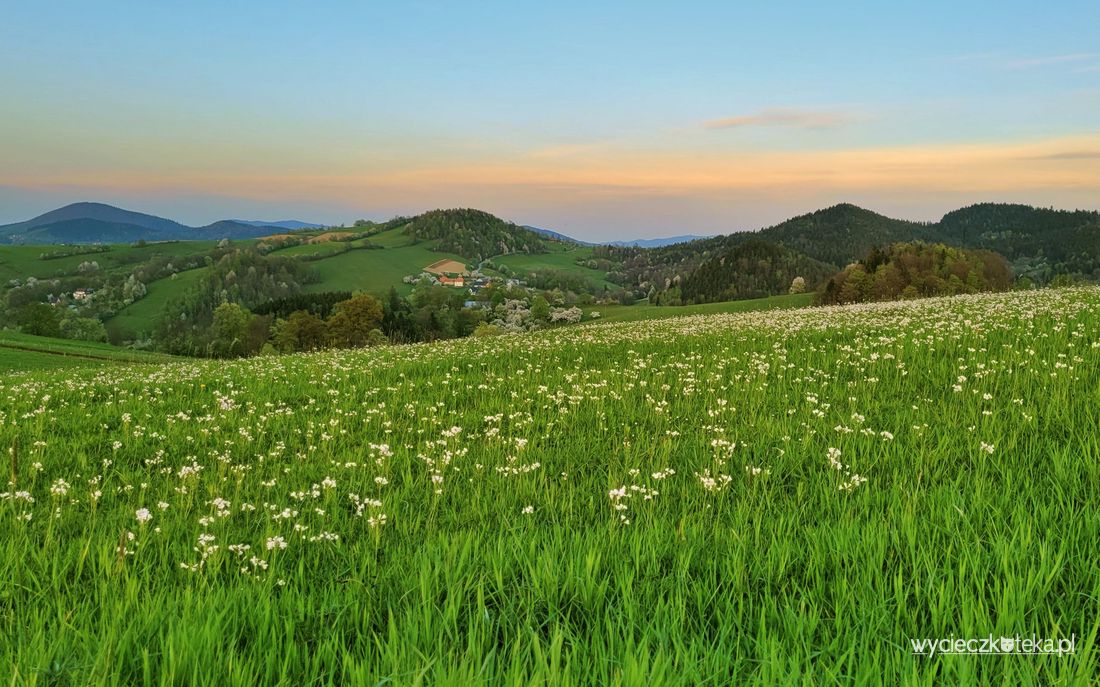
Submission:
<svg viewBox="0 0 1100 687">
<path fill-rule="evenodd" d="M 173 359 L 176 358 L 170 355 L 129 351 L 103 343 L 0 331 L 0 372 L 4 373 Z"/>
</svg>

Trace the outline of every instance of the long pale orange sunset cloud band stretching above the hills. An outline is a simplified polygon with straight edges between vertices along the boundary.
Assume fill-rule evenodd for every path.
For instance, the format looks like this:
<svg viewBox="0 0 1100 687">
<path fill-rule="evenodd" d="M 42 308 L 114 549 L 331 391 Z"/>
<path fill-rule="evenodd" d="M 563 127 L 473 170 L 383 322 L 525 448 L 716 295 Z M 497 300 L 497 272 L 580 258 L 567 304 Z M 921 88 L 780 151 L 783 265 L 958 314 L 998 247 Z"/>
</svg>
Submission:
<svg viewBox="0 0 1100 687">
<path fill-rule="evenodd" d="M 823 151 L 651 151 L 598 145 L 499 153 L 479 162 L 420 162 L 405 169 L 331 171 L 254 168 L 148 173 L 0 173 L 0 185 L 65 186 L 132 191 L 208 192 L 254 199 L 422 199 L 473 204 L 483 196 L 573 195 L 702 197 L 738 191 L 791 197 L 827 192 L 1001 192 L 1096 190 L 1100 198 L 1100 135 L 1003 142 Z M 568 153 L 568 154 L 566 154 Z"/>
</svg>

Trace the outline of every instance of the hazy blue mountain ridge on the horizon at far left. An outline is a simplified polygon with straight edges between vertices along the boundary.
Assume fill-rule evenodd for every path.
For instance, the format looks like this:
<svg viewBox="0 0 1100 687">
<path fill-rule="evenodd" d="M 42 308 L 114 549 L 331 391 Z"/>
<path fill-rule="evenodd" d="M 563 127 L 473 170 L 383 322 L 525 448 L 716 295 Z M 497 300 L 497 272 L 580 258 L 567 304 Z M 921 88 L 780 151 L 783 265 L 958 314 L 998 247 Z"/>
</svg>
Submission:
<svg viewBox="0 0 1100 687">
<path fill-rule="evenodd" d="M 129 243 L 133 241 L 195 241 L 254 239 L 286 231 L 222 220 L 206 226 L 187 226 L 173 220 L 123 210 L 99 202 L 76 202 L 44 214 L 0 225 L 0 243 Z"/>
</svg>

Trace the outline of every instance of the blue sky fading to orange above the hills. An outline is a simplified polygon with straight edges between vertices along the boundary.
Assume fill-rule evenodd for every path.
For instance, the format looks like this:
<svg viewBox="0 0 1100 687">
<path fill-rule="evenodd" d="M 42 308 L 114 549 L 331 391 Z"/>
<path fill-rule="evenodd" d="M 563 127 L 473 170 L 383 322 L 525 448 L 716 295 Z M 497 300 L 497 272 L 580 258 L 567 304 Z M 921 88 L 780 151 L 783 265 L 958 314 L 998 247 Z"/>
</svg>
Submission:
<svg viewBox="0 0 1100 687">
<path fill-rule="evenodd" d="M 178 7 L 175 7 L 178 5 Z M 0 0 L 0 223 L 1100 209 L 1100 2 Z"/>
</svg>

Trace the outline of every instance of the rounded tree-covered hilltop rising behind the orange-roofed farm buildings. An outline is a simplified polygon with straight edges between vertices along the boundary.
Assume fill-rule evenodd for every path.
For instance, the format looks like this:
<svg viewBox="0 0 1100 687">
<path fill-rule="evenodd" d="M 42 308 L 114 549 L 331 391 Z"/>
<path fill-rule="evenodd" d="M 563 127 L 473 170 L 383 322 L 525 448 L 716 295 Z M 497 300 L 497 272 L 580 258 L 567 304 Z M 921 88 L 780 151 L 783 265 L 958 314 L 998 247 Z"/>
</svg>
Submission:
<svg viewBox="0 0 1100 687">
<path fill-rule="evenodd" d="M 389 225 L 420 241 L 436 241 L 438 251 L 485 259 L 505 253 L 542 253 L 550 240 L 481 210 L 432 210 Z"/>
</svg>

